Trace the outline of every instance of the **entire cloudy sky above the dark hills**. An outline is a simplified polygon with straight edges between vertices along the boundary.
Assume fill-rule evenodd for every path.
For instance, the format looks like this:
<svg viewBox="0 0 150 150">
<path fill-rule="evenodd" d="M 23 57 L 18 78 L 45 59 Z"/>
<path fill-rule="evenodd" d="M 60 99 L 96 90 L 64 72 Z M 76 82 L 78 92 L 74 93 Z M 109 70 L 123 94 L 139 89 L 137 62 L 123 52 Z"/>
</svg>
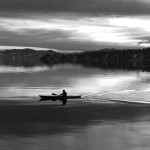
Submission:
<svg viewBox="0 0 150 150">
<path fill-rule="evenodd" d="M 0 0 L 0 49 L 150 46 L 150 0 Z"/>
</svg>

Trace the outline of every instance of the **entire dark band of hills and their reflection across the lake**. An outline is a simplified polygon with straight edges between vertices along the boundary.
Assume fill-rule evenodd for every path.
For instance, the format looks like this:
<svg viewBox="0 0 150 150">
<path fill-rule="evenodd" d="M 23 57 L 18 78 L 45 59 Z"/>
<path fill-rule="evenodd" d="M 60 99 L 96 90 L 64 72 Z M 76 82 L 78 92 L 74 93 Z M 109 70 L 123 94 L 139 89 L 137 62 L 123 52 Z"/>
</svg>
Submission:
<svg viewBox="0 0 150 150">
<path fill-rule="evenodd" d="M 81 53 L 58 53 L 52 50 L 6 50 L 0 52 L 0 64 L 34 67 L 55 64 L 81 64 L 104 69 L 150 69 L 150 48 L 116 50 L 104 49 Z"/>
</svg>

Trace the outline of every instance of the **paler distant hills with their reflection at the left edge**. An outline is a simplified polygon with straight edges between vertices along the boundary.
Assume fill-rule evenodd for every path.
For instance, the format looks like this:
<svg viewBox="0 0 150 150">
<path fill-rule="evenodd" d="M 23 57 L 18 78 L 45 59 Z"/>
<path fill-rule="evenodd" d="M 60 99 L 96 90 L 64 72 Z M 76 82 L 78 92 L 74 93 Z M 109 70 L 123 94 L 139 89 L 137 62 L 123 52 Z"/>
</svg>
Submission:
<svg viewBox="0 0 150 150">
<path fill-rule="evenodd" d="M 9 66 L 32 67 L 42 65 L 40 58 L 44 55 L 55 55 L 53 50 L 12 49 L 0 51 L 0 64 Z"/>
</svg>

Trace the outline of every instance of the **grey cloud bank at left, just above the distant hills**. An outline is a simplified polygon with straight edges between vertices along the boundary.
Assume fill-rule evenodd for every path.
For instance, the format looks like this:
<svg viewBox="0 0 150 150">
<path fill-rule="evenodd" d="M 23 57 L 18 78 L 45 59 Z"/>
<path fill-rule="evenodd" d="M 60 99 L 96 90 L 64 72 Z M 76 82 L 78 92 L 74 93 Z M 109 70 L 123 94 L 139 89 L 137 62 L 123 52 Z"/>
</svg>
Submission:
<svg viewBox="0 0 150 150">
<path fill-rule="evenodd" d="M 28 34 L 30 33 L 30 34 Z M 89 41 L 79 41 L 70 39 L 72 32 L 63 32 L 61 30 L 25 30 L 22 32 L 0 31 L 0 43 L 5 46 L 25 46 L 25 47 L 43 47 L 64 50 L 87 50 L 100 48 L 100 45 Z"/>
</svg>

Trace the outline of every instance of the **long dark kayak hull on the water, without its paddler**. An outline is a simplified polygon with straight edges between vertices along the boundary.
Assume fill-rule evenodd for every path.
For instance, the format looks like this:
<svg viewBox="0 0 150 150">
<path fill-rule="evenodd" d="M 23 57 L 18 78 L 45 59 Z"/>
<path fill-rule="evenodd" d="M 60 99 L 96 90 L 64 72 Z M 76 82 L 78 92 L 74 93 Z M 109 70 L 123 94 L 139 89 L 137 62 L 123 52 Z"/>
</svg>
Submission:
<svg viewBox="0 0 150 150">
<path fill-rule="evenodd" d="M 56 101 L 56 100 L 63 100 L 63 96 L 44 96 L 44 95 L 39 95 L 41 99 L 39 101 L 46 101 L 46 100 L 51 100 L 51 101 Z M 67 96 L 67 99 L 76 99 L 76 98 L 81 98 L 81 95 L 79 96 Z"/>
</svg>

